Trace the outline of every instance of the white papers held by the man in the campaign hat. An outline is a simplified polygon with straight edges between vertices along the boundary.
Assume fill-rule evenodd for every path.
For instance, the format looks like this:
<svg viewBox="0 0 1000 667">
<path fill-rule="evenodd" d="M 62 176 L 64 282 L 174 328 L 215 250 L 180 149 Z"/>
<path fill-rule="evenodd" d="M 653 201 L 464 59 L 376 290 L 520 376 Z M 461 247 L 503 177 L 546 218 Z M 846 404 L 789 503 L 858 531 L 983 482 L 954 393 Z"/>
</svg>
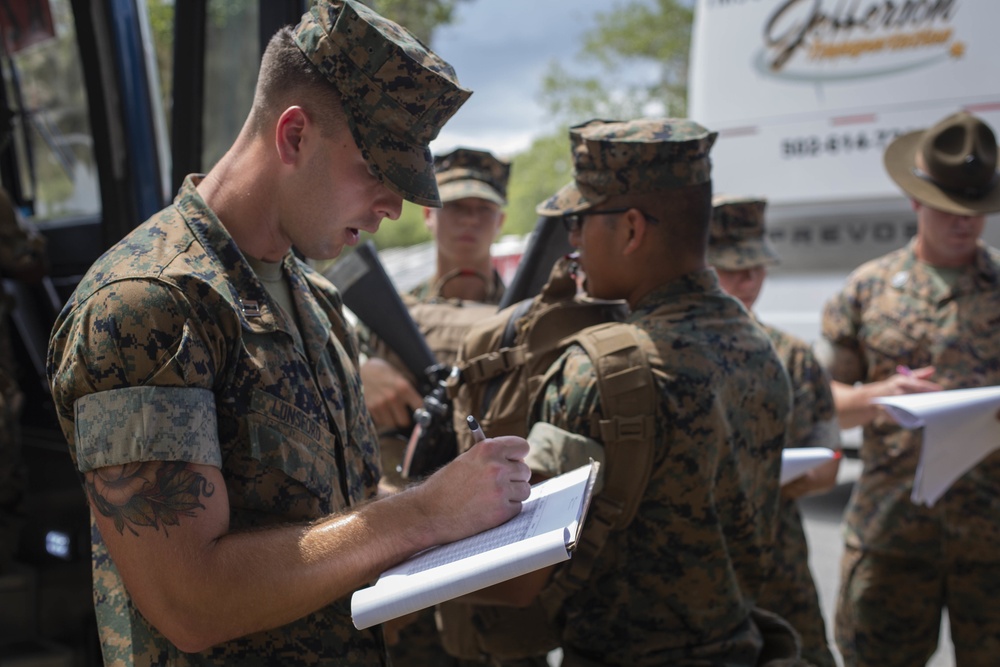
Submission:
<svg viewBox="0 0 1000 667">
<path fill-rule="evenodd" d="M 924 428 L 910 499 L 934 505 L 955 481 L 1000 447 L 1000 387 L 875 399 L 904 428 Z"/>
</svg>

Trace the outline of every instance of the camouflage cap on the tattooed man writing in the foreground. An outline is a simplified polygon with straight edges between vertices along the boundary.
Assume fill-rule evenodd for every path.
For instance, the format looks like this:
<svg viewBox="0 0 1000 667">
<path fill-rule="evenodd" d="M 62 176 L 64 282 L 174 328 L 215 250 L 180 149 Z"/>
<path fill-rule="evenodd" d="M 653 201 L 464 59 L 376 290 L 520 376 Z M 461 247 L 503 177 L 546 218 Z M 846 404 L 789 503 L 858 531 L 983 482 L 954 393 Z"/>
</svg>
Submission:
<svg viewBox="0 0 1000 667">
<path fill-rule="evenodd" d="M 404 199 L 441 206 L 428 146 L 472 94 L 405 28 L 355 0 L 321 2 L 292 31 L 337 87 L 365 161 Z"/>
</svg>

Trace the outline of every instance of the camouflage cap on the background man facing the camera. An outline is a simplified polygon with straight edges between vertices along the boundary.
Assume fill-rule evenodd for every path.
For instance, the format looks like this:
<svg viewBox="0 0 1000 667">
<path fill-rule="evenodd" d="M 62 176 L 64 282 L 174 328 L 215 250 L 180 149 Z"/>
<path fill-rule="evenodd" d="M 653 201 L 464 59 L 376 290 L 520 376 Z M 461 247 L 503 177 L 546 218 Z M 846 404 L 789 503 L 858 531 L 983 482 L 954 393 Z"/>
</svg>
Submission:
<svg viewBox="0 0 1000 667">
<path fill-rule="evenodd" d="M 434 157 L 438 191 L 442 202 L 477 197 L 498 206 L 507 203 L 510 163 L 489 151 L 456 148 Z"/>
</svg>

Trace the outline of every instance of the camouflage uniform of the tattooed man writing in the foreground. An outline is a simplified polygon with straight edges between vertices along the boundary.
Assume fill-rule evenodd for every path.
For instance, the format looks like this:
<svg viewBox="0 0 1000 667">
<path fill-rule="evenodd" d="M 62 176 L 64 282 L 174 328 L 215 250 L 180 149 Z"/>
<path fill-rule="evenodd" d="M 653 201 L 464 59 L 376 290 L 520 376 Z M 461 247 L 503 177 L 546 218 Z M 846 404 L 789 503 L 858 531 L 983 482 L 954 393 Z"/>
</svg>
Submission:
<svg viewBox="0 0 1000 667">
<path fill-rule="evenodd" d="M 196 184 L 188 177 L 173 206 L 105 253 L 56 321 L 49 381 L 77 467 L 219 465 L 232 530 L 318 519 L 372 498 L 378 444 L 339 294 L 289 253 L 299 326 L 286 321 Z M 181 653 L 132 605 L 96 524 L 92 535 L 108 665 L 385 664 L 381 632 L 354 629 L 348 597 L 273 631 Z"/>
</svg>

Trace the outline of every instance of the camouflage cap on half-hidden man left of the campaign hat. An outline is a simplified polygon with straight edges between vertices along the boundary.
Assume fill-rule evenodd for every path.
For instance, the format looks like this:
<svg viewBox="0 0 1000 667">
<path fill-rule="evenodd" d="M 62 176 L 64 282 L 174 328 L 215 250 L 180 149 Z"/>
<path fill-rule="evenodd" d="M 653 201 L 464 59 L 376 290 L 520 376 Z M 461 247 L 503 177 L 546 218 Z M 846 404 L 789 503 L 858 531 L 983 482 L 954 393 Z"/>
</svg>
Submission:
<svg viewBox="0 0 1000 667">
<path fill-rule="evenodd" d="M 754 197 L 713 197 L 708 263 L 724 271 L 777 264 L 778 253 L 764 235 L 766 206 L 766 201 Z"/>
</svg>

